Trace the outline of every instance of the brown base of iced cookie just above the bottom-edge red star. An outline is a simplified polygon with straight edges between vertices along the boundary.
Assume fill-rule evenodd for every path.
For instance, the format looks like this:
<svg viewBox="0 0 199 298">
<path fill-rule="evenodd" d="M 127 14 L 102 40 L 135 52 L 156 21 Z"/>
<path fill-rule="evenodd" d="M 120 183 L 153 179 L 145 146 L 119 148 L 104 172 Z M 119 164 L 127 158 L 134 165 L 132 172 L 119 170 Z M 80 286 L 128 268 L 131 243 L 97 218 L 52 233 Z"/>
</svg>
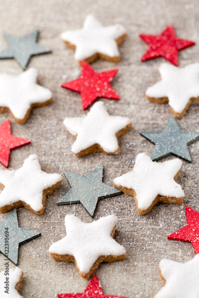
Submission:
<svg viewBox="0 0 199 298">
<path fill-rule="evenodd" d="M 116 225 L 114 226 L 114 228 L 112 229 L 112 232 L 111 232 L 112 238 L 115 234 L 115 228 L 116 228 Z M 93 264 L 93 266 L 90 268 L 90 271 L 87 274 L 84 274 L 83 272 L 81 272 L 79 270 L 75 258 L 73 256 L 71 256 L 70 254 L 61 255 L 61 254 L 50 253 L 50 255 L 53 258 L 53 260 L 55 260 L 55 261 L 75 262 L 75 266 L 77 267 L 79 274 L 81 275 L 81 277 L 83 277 L 85 279 L 89 278 L 92 275 L 92 273 L 98 268 L 98 266 L 101 262 L 115 262 L 115 261 L 123 260 L 126 257 L 126 254 L 122 254 L 120 256 L 100 256 L 100 257 L 98 257 L 96 262 Z"/>
</svg>

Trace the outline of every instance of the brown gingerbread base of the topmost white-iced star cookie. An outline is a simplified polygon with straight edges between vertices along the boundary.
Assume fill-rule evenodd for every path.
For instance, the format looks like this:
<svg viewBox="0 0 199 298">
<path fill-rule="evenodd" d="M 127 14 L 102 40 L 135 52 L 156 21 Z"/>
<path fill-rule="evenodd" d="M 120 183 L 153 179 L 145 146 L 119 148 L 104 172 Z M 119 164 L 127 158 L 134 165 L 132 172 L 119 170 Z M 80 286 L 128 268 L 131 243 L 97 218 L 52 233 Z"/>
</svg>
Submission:
<svg viewBox="0 0 199 298">
<path fill-rule="evenodd" d="M 116 43 L 117 45 L 120 45 L 124 39 L 127 37 L 127 34 L 123 34 L 122 36 L 120 36 L 118 39 L 116 39 Z M 74 44 L 71 44 L 70 42 L 68 41 L 64 41 L 62 40 L 68 47 L 72 48 L 73 50 L 76 49 L 76 46 Z M 107 55 L 104 55 L 104 54 L 100 54 L 100 53 L 96 53 L 95 55 L 92 55 L 91 57 L 87 58 L 87 59 L 84 59 L 87 63 L 92 63 L 94 62 L 95 60 L 97 59 L 103 59 L 103 60 L 107 60 L 107 61 L 110 61 L 110 62 L 119 62 L 121 57 L 120 56 L 114 56 L 114 57 L 110 57 L 110 56 L 107 56 Z M 81 61 L 78 61 L 79 65 L 81 66 Z"/>
</svg>

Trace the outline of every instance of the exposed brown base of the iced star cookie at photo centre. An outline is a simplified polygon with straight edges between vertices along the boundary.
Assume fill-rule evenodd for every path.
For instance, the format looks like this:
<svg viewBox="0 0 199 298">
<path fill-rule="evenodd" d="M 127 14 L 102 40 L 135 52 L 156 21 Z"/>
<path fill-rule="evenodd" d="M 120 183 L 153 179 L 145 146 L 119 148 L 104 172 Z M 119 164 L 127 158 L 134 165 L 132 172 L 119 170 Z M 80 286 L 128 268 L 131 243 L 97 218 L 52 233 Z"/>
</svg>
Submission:
<svg viewBox="0 0 199 298">
<path fill-rule="evenodd" d="M 124 134 L 126 134 L 129 131 L 129 129 L 131 128 L 131 126 L 132 126 L 132 123 L 130 123 L 125 128 L 118 131 L 116 133 L 117 140 L 120 136 L 123 136 Z M 74 136 L 74 137 L 76 138 L 77 136 Z M 118 150 L 116 150 L 115 152 L 106 152 L 101 148 L 101 146 L 99 144 L 95 144 L 95 145 L 92 145 L 89 148 L 86 148 L 86 149 L 84 149 L 84 150 L 82 150 L 78 153 L 74 153 L 74 154 L 78 157 L 81 157 L 81 156 L 85 156 L 85 155 L 88 155 L 90 153 L 95 153 L 95 152 L 103 152 L 103 153 L 106 153 L 106 154 L 119 154 L 120 153 L 119 140 L 118 140 Z"/>
</svg>

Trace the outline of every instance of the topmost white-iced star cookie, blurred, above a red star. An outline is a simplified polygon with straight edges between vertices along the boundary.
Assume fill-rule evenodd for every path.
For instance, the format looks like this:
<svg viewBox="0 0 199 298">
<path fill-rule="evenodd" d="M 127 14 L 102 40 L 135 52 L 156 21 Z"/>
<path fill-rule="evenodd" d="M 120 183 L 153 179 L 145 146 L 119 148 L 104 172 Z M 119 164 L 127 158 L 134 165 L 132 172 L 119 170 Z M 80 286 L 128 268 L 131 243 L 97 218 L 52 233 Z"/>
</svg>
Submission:
<svg viewBox="0 0 199 298">
<path fill-rule="evenodd" d="M 103 27 L 93 15 L 87 15 L 83 28 L 67 30 L 61 34 L 61 39 L 75 49 L 75 59 L 79 62 L 85 60 L 91 63 L 98 58 L 118 62 L 118 45 L 126 36 L 127 32 L 122 25 Z"/>
</svg>

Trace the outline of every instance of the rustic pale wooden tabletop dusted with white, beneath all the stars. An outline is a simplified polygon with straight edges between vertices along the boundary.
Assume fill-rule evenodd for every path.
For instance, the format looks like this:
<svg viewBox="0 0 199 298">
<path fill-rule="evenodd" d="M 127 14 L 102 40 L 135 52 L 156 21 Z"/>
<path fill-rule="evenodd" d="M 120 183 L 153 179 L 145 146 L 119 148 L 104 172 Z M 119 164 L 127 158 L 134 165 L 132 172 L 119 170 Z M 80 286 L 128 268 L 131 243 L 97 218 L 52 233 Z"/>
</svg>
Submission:
<svg viewBox="0 0 199 298">
<path fill-rule="evenodd" d="M 32 111 L 24 125 L 17 124 L 9 113 L 0 115 L 0 123 L 8 117 L 12 132 L 31 139 L 32 144 L 11 152 L 9 169 L 17 169 L 32 153 L 37 153 L 41 165 L 48 173 L 64 170 L 87 174 L 102 162 L 104 182 L 113 185 L 112 179 L 130 171 L 135 157 L 140 152 L 151 156 L 154 145 L 140 136 L 139 131 L 161 130 L 171 111 L 168 104 L 149 103 L 145 98 L 148 86 L 160 79 L 158 66 L 163 59 L 140 62 L 147 45 L 138 37 L 138 32 L 160 33 L 173 23 L 179 37 L 196 41 L 196 45 L 179 52 L 179 66 L 198 61 L 199 52 L 199 7 L 198 1 L 188 0 L 21 0 L 0 3 L 0 50 L 7 46 L 4 32 L 25 35 L 39 28 L 38 42 L 52 49 L 51 54 L 33 57 L 28 68 L 38 69 L 38 81 L 52 90 L 52 104 Z M 9 7 L 13 8 L 9 8 Z M 7 10 L 10 10 L 7 12 Z M 121 23 L 127 28 L 128 38 L 121 47 L 121 62 L 98 60 L 92 66 L 103 71 L 119 68 L 112 86 L 120 95 L 120 101 L 104 100 L 112 115 L 132 119 L 132 129 L 120 138 L 121 153 L 118 156 L 95 153 L 77 158 L 70 151 L 73 137 L 63 125 L 66 116 L 84 115 L 80 95 L 60 87 L 61 83 L 79 76 L 80 67 L 74 60 L 74 52 L 60 39 L 60 33 L 77 29 L 87 14 L 93 13 L 104 25 Z M 45 27 L 42 25 L 46 22 Z M 129 41 L 130 39 L 130 41 Z M 65 52 L 68 51 L 68 52 Z M 64 57 L 63 52 L 67 53 Z M 15 60 L 0 60 L 0 72 L 22 72 Z M 10 86 L 12 87 L 12 86 Z M 181 120 L 181 129 L 199 131 L 199 105 L 195 104 Z M 102 263 L 95 271 L 105 294 L 129 298 L 154 297 L 163 286 L 158 274 L 158 263 L 163 258 L 185 262 L 194 257 L 190 243 L 167 240 L 167 235 L 186 224 L 185 204 L 199 211 L 198 207 L 198 161 L 199 142 L 189 145 L 192 163 L 183 162 L 177 180 L 184 189 L 183 204 L 158 204 L 147 215 L 140 216 L 133 197 L 120 195 L 99 201 L 94 219 L 115 214 L 118 224 L 115 240 L 127 249 L 125 260 Z M 173 158 L 169 156 L 167 160 Z M 0 169 L 4 167 L 0 164 Z M 53 241 L 65 236 L 64 216 L 67 213 L 80 217 L 85 222 L 92 219 L 80 204 L 57 206 L 56 201 L 69 189 L 63 175 L 61 186 L 47 198 L 43 215 L 34 215 L 24 208 L 17 210 L 19 226 L 41 232 L 41 237 L 19 248 L 18 266 L 24 271 L 20 293 L 25 298 L 56 297 L 57 293 L 82 292 L 88 280 L 80 277 L 74 263 L 56 262 L 48 254 Z M 0 214 L 2 221 L 7 214 Z M 0 255 L 0 271 L 4 270 L 4 257 Z M 14 265 L 10 262 L 10 267 Z"/>
</svg>

